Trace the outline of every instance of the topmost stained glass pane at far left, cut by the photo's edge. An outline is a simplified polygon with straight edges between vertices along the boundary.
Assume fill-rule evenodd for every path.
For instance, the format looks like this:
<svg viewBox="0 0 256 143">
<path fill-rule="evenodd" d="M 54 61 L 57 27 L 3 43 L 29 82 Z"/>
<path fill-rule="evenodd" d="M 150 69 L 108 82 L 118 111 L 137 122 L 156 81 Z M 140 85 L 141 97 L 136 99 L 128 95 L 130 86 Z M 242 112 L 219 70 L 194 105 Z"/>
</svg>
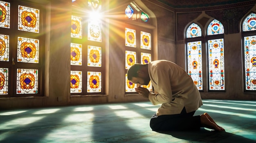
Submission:
<svg viewBox="0 0 256 143">
<path fill-rule="evenodd" d="M 10 28 L 10 3 L 0 1 L 0 27 Z"/>
</svg>

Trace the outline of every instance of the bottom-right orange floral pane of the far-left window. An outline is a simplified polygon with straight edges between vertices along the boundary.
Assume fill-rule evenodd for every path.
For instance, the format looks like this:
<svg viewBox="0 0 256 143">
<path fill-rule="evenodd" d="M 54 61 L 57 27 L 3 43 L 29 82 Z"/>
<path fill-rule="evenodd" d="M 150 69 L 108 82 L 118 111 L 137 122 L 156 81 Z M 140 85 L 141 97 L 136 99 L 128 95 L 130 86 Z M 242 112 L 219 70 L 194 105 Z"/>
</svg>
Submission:
<svg viewBox="0 0 256 143">
<path fill-rule="evenodd" d="M 17 69 L 17 94 L 38 93 L 38 69 Z"/>
</svg>

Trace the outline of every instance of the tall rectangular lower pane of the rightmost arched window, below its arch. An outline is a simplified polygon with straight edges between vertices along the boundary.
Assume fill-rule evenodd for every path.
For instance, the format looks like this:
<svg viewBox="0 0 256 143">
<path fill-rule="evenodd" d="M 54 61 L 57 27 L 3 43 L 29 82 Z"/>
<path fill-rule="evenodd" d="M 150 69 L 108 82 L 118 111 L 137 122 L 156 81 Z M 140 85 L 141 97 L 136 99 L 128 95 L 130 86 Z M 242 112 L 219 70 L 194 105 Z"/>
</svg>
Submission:
<svg viewBox="0 0 256 143">
<path fill-rule="evenodd" d="M 245 87 L 256 90 L 256 36 L 244 37 L 245 48 Z"/>
</svg>

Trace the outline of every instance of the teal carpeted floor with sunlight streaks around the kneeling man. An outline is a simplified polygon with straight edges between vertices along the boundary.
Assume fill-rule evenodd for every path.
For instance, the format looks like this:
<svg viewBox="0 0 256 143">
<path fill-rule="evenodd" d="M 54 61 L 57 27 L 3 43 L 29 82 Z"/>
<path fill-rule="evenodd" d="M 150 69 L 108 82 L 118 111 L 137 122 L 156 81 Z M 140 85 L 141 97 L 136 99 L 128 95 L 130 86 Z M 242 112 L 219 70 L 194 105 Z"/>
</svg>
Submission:
<svg viewBox="0 0 256 143">
<path fill-rule="evenodd" d="M 226 132 L 154 132 L 150 102 L 0 111 L 0 143 L 256 143 L 256 101 L 203 100 Z"/>
</svg>

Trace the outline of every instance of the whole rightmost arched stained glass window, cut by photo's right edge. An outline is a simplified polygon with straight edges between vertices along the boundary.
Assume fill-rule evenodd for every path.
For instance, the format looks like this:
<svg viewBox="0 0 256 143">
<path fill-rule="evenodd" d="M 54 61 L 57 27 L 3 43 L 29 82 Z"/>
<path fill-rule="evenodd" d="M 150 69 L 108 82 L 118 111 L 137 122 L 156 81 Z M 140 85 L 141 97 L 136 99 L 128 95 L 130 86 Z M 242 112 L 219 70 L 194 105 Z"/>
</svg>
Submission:
<svg viewBox="0 0 256 143">
<path fill-rule="evenodd" d="M 256 13 L 250 13 L 242 23 L 245 91 L 256 90 Z"/>
</svg>

